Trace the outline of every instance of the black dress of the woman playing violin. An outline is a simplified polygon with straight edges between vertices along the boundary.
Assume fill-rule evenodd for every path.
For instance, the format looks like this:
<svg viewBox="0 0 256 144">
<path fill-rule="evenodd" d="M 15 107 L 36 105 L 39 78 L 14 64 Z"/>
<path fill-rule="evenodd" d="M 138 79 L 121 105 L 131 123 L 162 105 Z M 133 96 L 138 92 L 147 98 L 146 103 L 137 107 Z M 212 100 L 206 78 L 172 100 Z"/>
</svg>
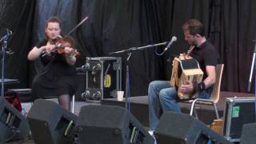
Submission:
<svg viewBox="0 0 256 144">
<path fill-rule="evenodd" d="M 38 42 L 36 47 L 46 46 L 47 40 Z M 57 98 L 62 94 L 72 96 L 75 92 L 76 71 L 66 63 L 63 54 L 40 54 L 43 69 L 32 82 L 32 94 L 37 98 Z"/>
</svg>

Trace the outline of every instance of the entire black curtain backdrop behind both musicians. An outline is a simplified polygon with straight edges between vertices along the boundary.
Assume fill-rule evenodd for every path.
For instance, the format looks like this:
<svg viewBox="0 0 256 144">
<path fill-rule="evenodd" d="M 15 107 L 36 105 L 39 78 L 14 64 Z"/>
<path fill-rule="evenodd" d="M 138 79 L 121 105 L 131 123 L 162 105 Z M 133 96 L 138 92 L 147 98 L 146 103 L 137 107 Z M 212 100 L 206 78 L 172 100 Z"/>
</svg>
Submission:
<svg viewBox="0 0 256 144">
<path fill-rule="evenodd" d="M 125 75 L 126 54 L 109 55 L 110 52 L 169 41 L 174 35 L 178 37 L 161 57 L 155 54 L 154 48 L 132 54 L 131 96 L 146 95 L 150 81 L 170 78 L 167 59 L 188 48 L 182 23 L 197 18 L 205 24 L 206 36 L 225 64 L 222 90 L 246 92 L 256 38 L 255 7 L 254 0 L 2 0 L 0 36 L 6 28 L 13 31 L 8 48 L 15 52 L 7 55 L 6 78 L 18 78 L 19 87 L 30 86 L 35 74 L 34 62 L 28 62 L 26 55 L 38 39 L 44 37 L 47 18 L 59 16 L 62 32 L 66 34 L 89 16 L 89 20 L 71 34 L 82 53 L 77 66 L 82 66 L 86 57 L 122 57 L 122 75 Z M 158 52 L 162 48 L 159 46 Z M 125 77 L 122 86 L 125 86 Z"/>
</svg>

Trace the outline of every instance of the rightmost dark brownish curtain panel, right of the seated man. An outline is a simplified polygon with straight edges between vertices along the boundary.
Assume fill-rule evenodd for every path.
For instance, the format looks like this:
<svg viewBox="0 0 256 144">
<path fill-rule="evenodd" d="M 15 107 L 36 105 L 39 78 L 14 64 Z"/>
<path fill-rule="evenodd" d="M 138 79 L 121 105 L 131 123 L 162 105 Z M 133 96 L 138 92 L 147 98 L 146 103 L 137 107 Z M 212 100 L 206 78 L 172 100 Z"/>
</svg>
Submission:
<svg viewBox="0 0 256 144">
<path fill-rule="evenodd" d="M 223 1 L 221 14 L 221 37 L 218 51 L 225 63 L 223 89 L 246 91 L 256 38 L 256 2 Z M 255 82 L 255 66 L 254 77 Z M 252 89 L 255 90 L 255 83 Z"/>
</svg>

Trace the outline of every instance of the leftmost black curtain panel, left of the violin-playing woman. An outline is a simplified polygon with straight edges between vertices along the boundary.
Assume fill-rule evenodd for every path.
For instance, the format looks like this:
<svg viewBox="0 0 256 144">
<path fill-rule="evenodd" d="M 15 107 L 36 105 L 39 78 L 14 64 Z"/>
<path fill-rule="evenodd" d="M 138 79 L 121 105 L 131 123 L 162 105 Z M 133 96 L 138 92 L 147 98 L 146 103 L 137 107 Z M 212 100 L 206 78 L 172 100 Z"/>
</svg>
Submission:
<svg viewBox="0 0 256 144">
<path fill-rule="evenodd" d="M 26 56 L 31 47 L 33 19 L 34 1 L 0 1 L 0 37 L 6 34 L 6 29 L 12 31 L 6 51 L 14 52 L 6 54 L 5 78 L 18 79 L 20 83 L 16 86 L 19 88 L 28 87 L 30 82 L 30 64 Z M 0 46 L 2 51 L 2 42 Z"/>
</svg>

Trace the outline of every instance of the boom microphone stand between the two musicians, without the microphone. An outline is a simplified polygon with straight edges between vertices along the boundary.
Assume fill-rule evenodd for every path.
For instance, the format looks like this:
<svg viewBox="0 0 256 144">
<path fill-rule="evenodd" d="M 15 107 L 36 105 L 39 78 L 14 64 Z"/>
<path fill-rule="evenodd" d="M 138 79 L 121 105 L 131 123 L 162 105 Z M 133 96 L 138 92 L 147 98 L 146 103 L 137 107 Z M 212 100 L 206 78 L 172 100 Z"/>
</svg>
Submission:
<svg viewBox="0 0 256 144">
<path fill-rule="evenodd" d="M 129 49 L 126 49 L 126 50 L 120 50 L 120 51 L 115 51 L 115 52 L 109 53 L 109 54 L 127 53 L 127 58 L 126 58 L 126 110 L 130 111 L 129 60 L 130 60 L 130 56 L 132 55 L 132 52 L 135 51 L 135 50 L 144 50 L 144 49 L 149 48 L 149 47 L 166 45 L 167 43 L 168 42 L 162 42 L 162 43 L 157 43 L 157 44 L 147 45 L 147 46 L 141 46 L 141 47 L 130 47 Z M 129 104 L 129 107 L 128 107 L 128 104 Z"/>
</svg>

